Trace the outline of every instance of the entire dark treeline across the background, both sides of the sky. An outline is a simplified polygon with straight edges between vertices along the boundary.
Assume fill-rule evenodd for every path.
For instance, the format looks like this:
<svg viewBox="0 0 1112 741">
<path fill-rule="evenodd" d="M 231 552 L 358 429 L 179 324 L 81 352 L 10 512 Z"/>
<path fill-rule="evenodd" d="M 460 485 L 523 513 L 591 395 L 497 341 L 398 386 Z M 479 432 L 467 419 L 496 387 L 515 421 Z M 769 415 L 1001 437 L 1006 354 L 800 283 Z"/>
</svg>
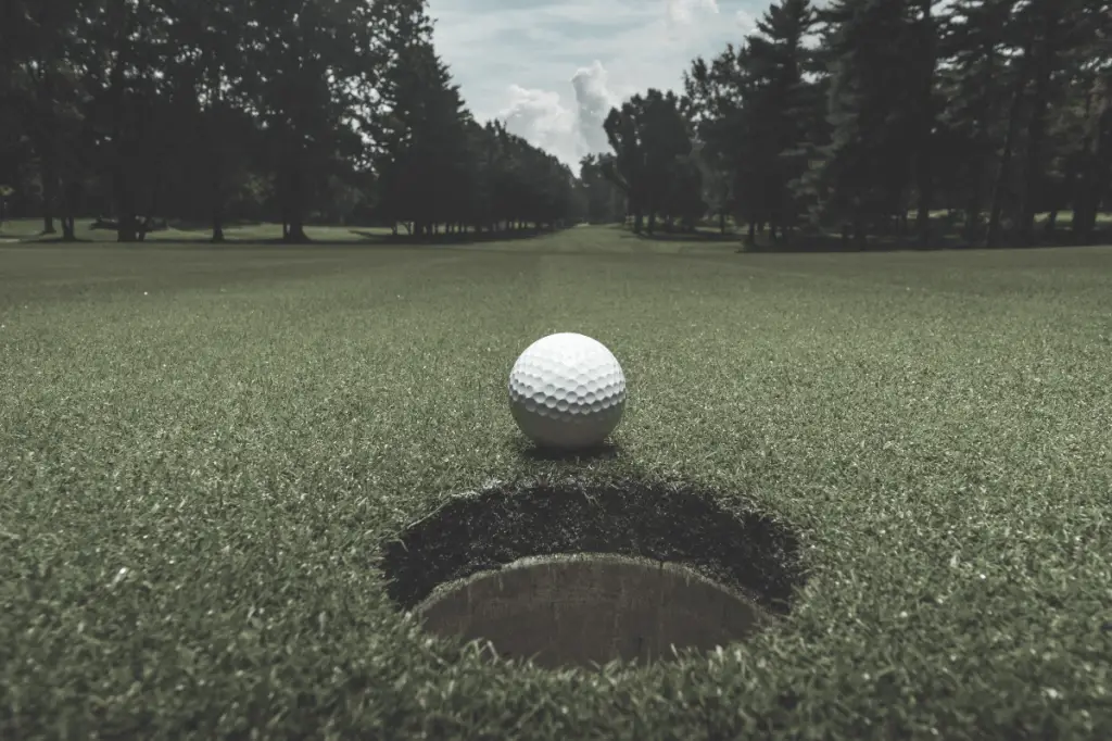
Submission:
<svg viewBox="0 0 1112 741">
<path fill-rule="evenodd" d="M 625 221 L 749 240 L 941 228 L 1101 237 L 1112 209 L 1112 1 L 780 0 L 681 91 L 609 112 L 579 171 L 468 111 L 425 0 L 9 0 L 4 216 L 499 231 Z M 931 214 L 950 214 L 940 226 Z M 911 217 L 909 217 L 911 214 Z M 1048 214 L 1036 227 L 1036 214 Z M 1061 227 L 1064 229 L 1066 227 Z"/>
</svg>

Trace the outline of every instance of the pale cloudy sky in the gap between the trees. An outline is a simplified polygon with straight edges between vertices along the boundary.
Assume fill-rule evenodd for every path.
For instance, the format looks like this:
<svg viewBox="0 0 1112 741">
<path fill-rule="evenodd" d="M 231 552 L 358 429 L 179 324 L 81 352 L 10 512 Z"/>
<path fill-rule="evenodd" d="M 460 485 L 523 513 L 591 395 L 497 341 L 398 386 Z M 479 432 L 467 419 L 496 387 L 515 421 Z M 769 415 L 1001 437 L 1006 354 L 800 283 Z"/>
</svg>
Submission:
<svg viewBox="0 0 1112 741">
<path fill-rule="evenodd" d="M 578 171 L 610 107 L 683 89 L 691 61 L 753 31 L 768 0 L 429 0 L 464 100 Z"/>
</svg>

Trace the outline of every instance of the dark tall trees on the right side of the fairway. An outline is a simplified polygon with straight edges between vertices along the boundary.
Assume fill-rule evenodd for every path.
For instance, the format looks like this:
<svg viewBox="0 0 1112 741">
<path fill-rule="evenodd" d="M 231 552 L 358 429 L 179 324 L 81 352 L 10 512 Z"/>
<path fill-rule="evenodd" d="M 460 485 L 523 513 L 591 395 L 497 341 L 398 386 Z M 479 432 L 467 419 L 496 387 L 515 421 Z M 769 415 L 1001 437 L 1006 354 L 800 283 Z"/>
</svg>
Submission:
<svg viewBox="0 0 1112 741">
<path fill-rule="evenodd" d="M 749 240 L 925 245 L 943 211 L 966 244 L 1031 245 L 1072 211 L 1086 244 L 1112 209 L 1109 0 L 780 0 L 683 79 L 613 109 L 613 151 L 583 161 L 637 231 L 713 215 Z"/>
</svg>

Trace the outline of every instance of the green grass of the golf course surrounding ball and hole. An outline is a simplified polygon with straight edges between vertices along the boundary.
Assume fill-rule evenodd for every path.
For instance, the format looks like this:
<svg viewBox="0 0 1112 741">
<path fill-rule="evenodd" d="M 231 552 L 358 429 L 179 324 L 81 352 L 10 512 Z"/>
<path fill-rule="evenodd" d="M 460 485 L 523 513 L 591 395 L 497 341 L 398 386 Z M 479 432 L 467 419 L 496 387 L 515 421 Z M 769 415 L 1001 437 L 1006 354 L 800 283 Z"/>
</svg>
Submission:
<svg viewBox="0 0 1112 741">
<path fill-rule="evenodd" d="M 1101 738 L 1110 316 L 1109 248 L 0 246 L 0 738 Z M 626 369 L 614 457 L 507 412 L 567 329 Z M 794 611 L 598 673 L 399 616 L 400 528 L 568 473 L 790 526 Z"/>
</svg>

